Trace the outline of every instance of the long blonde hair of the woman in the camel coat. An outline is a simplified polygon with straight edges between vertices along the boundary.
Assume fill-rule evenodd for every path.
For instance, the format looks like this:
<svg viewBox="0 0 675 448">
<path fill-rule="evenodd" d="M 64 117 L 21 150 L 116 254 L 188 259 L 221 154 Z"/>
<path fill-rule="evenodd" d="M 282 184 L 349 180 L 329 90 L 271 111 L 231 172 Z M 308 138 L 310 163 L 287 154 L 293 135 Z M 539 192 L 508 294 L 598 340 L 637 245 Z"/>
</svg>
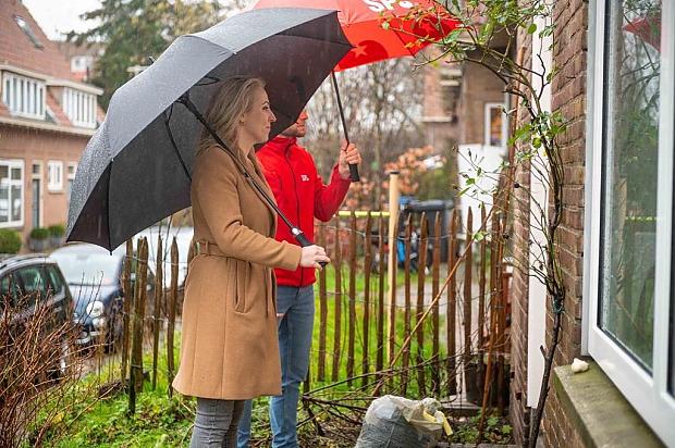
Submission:
<svg viewBox="0 0 675 448">
<path fill-rule="evenodd" d="M 246 76 L 233 76 L 223 80 L 205 114 L 207 123 L 237 155 L 240 149 L 236 148 L 236 128 L 242 115 L 253 108 L 253 92 L 258 87 L 265 88 L 265 80 Z M 197 155 L 213 145 L 216 140 L 205 128 Z"/>
</svg>

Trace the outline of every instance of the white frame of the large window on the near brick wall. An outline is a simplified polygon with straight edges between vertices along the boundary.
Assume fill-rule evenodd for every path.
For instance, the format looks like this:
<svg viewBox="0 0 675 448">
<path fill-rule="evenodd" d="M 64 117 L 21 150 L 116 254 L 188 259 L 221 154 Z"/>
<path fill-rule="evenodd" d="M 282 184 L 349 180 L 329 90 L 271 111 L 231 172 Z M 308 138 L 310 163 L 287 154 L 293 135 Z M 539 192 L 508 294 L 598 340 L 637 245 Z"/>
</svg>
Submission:
<svg viewBox="0 0 675 448">
<path fill-rule="evenodd" d="M 593 357 L 604 373 L 666 445 L 675 446 L 675 397 L 668 391 L 671 334 L 671 239 L 673 233 L 673 151 L 675 137 L 675 2 L 662 2 L 659 171 L 656 206 L 656 267 L 652 374 L 612 340 L 598 325 L 600 312 L 600 241 L 603 145 L 605 0 L 591 2 L 589 11 L 589 116 L 587 123 L 586 240 L 584 266 L 582 351 Z M 674 360 L 675 362 L 675 360 Z"/>
</svg>

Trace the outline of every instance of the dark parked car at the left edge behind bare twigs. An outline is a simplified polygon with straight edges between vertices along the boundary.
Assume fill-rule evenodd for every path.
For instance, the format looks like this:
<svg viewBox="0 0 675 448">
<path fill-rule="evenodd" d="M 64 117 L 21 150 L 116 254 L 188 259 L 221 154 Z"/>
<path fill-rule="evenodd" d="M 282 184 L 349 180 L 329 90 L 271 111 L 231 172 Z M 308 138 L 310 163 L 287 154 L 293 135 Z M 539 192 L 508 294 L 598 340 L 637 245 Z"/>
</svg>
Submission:
<svg viewBox="0 0 675 448">
<path fill-rule="evenodd" d="M 48 325 L 44 335 L 53 331 L 61 339 L 60 353 L 54 357 L 58 365 L 51 372 L 63 374 L 71 364 L 71 343 L 75 336 L 68 332 L 75 332 L 75 326 L 66 325 L 72 324 L 73 297 L 59 265 L 44 253 L 0 256 L 0 319 L 10 325 L 9 334 L 21 334 L 30 318 L 38 318 L 38 304 L 48 307 L 50 318 L 39 315 Z"/>
</svg>

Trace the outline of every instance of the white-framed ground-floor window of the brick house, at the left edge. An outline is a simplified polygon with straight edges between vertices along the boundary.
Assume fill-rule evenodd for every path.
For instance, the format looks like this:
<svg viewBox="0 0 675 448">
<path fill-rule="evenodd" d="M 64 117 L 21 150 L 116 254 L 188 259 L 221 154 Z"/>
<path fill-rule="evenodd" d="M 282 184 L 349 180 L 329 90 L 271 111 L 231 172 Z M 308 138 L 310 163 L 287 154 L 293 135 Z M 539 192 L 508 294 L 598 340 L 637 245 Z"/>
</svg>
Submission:
<svg viewBox="0 0 675 448">
<path fill-rule="evenodd" d="M 24 162 L 0 160 L 0 227 L 24 224 Z"/>
</svg>

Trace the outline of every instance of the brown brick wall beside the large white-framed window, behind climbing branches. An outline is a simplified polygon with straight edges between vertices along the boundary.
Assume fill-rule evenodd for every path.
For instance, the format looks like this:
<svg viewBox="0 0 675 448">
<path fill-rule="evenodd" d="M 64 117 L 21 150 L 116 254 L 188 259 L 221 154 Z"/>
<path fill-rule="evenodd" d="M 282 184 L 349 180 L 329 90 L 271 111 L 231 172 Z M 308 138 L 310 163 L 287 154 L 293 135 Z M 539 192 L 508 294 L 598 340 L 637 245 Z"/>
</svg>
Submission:
<svg viewBox="0 0 675 448">
<path fill-rule="evenodd" d="M 554 366 L 568 364 L 579 356 L 581 344 L 581 295 L 584 269 L 584 179 L 585 179 L 585 124 L 586 124 L 586 58 L 588 3 L 582 0 L 556 0 L 554 4 L 556 42 L 553 61 L 560 69 L 552 83 L 552 109 L 561 111 L 568 120 L 567 130 L 560 136 L 559 145 L 564 163 L 562 225 L 559 227 L 557 254 L 561 260 L 567 295 L 561 329 L 560 344 Z M 525 36 L 521 36 L 525 37 Z M 531 43 L 520 42 L 531 53 Z M 520 43 L 519 43 L 520 45 Z M 527 166 L 518 172 L 518 182 L 529 185 Z M 528 257 L 529 234 L 524 221 L 528 211 L 516 210 L 514 223 L 515 256 L 518 260 Z M 510 416 L 514 424 L 517 443 L 526 441 L 528 427 L 527 393 L 527 306 L 528 279 L 514 273 L 512 296 L 512 390 Z M 551 341 L 553 315 L 547 300 L 547 345 Z M 544 409 L 540 438 L 547 447 L 581 446 L 574 425 L 560 407 L 555 390 L 551 388 Z"/>
</svg>

